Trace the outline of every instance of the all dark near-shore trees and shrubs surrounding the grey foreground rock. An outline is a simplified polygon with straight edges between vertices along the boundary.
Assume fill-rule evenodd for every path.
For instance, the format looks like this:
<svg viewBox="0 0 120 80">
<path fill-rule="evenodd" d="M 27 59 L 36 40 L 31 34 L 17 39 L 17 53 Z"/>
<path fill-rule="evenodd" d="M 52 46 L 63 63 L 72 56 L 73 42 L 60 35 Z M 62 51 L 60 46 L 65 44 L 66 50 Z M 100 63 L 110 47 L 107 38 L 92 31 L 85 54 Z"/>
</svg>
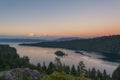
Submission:
<svg viewBox="0 0 120 80">
<path fill-rule="evenodd" d="M 78 66 L 72 67 L 62 64 L 60 58 L 55 58 L 54 62 L 50 62 L 48 66 L 45 63 L 36 66 L 29 63 L 28 57 L 19 57 L 16 49 L 8 45 L 0 45 L 0 72 L 11 70 L 14 68 L 29 68 L 35 69 L 43 75 L 39 79 L 33 80 L 120 80 L 120 67 L 118 67 L 111 77 L 104 70 L 86 69 L 83 61 L 78 63 Z M 18 74 L 18 80 L 31 80 L 29 76 Z M 5 77 L 0 77 L 0 80 L 6 80 Z"/>
</svg>

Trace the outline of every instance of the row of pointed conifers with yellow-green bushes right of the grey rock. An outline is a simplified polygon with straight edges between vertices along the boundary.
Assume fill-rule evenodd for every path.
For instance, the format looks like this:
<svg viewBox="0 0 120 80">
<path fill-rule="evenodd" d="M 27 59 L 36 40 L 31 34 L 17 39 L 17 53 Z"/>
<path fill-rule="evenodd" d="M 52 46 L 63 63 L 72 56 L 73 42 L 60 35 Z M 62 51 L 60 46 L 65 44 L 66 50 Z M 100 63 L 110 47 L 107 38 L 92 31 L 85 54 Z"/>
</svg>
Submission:
<svg viewBox="0 0 120 80">
<path fill-rule="evenodd" d="M 74 65 L 71 68 L 65 64 L 62 65 L 60 58 L 55 58 L 54 63 L 50 62 L 48 67 L 44 63 L 42 70 L 46 76 L 41 80 L 111 80 L 105 70 L 103 72 L 95 68 L 87 70 L 83 61 L 79 62 L 76 69 Z"/>
</svg>

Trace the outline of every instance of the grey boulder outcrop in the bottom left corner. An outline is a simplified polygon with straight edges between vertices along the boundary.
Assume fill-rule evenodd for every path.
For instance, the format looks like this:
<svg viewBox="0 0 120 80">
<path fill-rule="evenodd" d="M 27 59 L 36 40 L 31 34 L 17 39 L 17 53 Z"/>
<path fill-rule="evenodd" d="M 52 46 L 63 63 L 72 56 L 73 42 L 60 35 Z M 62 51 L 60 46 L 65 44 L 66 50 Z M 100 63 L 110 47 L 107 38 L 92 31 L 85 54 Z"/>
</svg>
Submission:
<svg viewBox="0 0 120 80">
<path fill-rule="evenodd" d="M 9 71 L 0 72 L 0 77 L 4 77 L 5 80 L 36 80 L 41 76 L 42 74 L 40 72 L 29 68 L 16 68 Z"/>
</svg>

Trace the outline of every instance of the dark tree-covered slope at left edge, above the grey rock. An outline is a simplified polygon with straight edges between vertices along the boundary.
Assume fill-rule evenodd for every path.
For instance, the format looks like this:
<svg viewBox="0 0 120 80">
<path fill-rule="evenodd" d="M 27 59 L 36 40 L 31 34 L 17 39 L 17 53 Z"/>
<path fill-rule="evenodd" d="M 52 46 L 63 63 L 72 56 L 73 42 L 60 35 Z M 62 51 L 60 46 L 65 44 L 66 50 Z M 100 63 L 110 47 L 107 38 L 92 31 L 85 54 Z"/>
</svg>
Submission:
<svg viewBox="0 0 120 80">
<path fill-rule="evenodd" d="M 30 65 L 29 58 L 26 56 L 20 58 L 15 48 L 9 47 L 9 45 L 0 45 L 0 71 L 17 67 L 24 68 Z"/>
</svg>

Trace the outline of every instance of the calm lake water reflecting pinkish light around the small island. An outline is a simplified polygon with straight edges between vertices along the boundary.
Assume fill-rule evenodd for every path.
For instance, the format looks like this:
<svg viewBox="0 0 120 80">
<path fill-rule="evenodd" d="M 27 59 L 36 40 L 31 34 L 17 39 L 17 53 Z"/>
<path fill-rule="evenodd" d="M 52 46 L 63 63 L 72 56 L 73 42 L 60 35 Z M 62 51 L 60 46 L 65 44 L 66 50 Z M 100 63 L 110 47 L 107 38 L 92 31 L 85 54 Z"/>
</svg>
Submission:
<svg viewBox="0 0 120 80">
<path fill-rule="evenodd" d="M 15 47 L 17 49 L 17 53 L 20 56 L 28 56 L 30 58 L 30 62 L 35 65 L 38 62 L 40 62 L 41 64 L 45 62 L 47 65 L 50 61 L 54 61 L 55 57 L 57 57 L 54 53 L 58 50 L 61 50 L 66 54 L 68 54 L 68 56 L 61 58 L 61 61 L 63 64 L 70 66 L 72 65 L 77 66 L 79 61 L 84 61 L 87 69 L 93 67 L 95 67 L 96 69 L 100 69 L 101 71 L 106 69 L 107 73 L 112 74 L 112 72 L 119 65 L 119 63 L 108 62 L 98 59 L 104 57 L 102 55 L 98 55 L 95 53 L 88 53 L 85 51 L 84 54 L 89 55 L 91 57 L 75 53 L 75 51 L 72 50 L 60 49 L 60 48 L 19 46 L 18 43 L 0 43 L 0 44 L 9 44 L 11 47 Z"/>
</svg>

